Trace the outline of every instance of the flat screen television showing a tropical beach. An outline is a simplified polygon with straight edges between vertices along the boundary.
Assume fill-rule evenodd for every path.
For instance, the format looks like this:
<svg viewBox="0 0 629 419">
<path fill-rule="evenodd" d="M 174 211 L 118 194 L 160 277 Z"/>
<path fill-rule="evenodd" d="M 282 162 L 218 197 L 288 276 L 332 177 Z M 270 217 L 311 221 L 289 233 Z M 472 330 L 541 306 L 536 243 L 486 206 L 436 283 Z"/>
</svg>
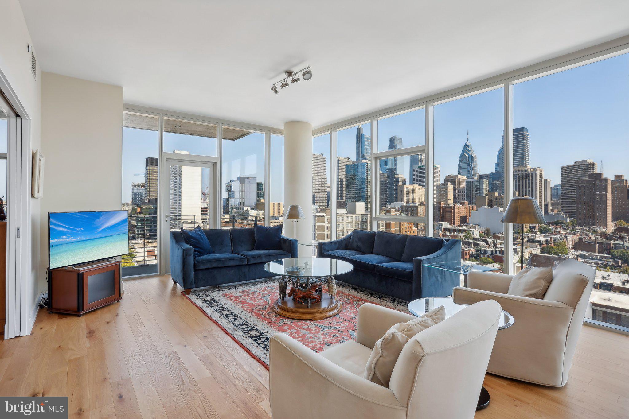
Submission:
<svg viewBox="0 0 629 419">
<path fill-rule="evenodd" d="M 129 253 L 126 211 L 48 213 L 50 269 Z"/>
</svg>

